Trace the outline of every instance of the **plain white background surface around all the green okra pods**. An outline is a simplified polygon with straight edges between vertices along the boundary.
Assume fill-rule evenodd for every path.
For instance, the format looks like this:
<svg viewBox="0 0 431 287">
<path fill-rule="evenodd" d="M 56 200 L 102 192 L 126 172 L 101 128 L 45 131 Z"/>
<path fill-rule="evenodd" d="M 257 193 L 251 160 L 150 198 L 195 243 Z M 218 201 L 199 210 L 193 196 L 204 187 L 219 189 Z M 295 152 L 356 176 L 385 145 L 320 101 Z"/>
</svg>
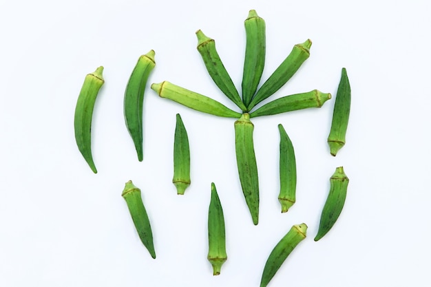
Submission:
<svg viewBox="0 0 431 287">
<path fill-rule="evenodd" d="M 149 84 L 171 81 L 235 109 L 207 74 L 194 32 L 215 39 L 240 88 L 250 9 L 266 21 L 261 83 L 293 45 L 313 41 L 310 58 L 269 100 L 311 89 L 335 95 L 341 67 L 352 87 L 347 142 L 336 158 L 326 144 L 334 100 L 253 120 L 257 226 L 240 189 L 234 119 L 148 87 L 138 162 L 123 118 L 129 75 L 151 49 Z M 273 246 L 302 222 L 308 237 L 269 286 L 430 286 L 430 10 L 425 0 L 0 1 L 0 286 L 259 286 Z M 99 65 L 94 174 L 76 147 L 73 118 L 85 74 Z M 176 113 L 191 148 L 184 196 L 171 183 Z M 279 123 L 297 159 L 297 202 L 286 214 L 277 202 Z M 339 166 L 350 178 L 346 204 L 314 242 Z M 142 189 L 155 260 L 121 198 L 127 180 Z M 229 259 L 218 277 L 206 259 L 211 182 L 227 228 Z"/>
</svg>

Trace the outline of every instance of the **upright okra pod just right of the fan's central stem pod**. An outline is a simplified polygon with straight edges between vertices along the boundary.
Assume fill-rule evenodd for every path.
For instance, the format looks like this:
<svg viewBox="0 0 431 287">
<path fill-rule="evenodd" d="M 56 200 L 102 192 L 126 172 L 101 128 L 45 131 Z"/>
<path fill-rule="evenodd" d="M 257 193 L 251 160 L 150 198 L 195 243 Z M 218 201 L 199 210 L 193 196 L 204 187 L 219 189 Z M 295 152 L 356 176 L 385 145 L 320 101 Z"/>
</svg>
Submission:
<svg viewBox="0 0 431 287">
<path fill-rule="evenodd" d="M 282 204 L 282 213 L 296 201 L 296 160 L 291 139 L 280 124 L 280 194 L 278 200 Z"/>
</svg>

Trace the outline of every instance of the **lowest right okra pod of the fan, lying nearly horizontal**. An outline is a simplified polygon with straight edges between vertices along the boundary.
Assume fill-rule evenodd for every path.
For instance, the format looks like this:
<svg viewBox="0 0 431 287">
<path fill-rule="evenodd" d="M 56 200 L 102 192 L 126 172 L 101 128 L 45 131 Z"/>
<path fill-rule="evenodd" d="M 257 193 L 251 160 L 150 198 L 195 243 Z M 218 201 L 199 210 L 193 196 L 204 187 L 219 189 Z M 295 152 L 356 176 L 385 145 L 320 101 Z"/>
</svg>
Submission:
<svg viewBox="0 0 431 287">
<path fill-rule="evenodd" d="M 326 100 L 329 100 L 330 98 L 330 94 L 322 93 L 317 89 L 302 94 L 284 96 L 263 105 L 259 109 L 256 109 L 250 114 L 250 118 L 281 114 L 286 111 L 307 109 L 308 107 L 322 107 Z"/>
</svg>

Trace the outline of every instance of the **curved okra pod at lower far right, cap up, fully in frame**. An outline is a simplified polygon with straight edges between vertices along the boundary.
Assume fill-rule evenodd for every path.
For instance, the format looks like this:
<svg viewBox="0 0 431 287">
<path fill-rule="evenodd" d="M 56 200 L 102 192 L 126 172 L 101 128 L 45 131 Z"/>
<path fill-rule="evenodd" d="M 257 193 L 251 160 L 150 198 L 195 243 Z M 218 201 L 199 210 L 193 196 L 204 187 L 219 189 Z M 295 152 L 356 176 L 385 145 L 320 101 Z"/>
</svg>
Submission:
<svg viewBox="0 0 431 287">
<path fill-rule="evenodd" d="M 319 231 L 317 231 L 314 241 L 320 240 L 334 226 L 346 201 L 347 186 L 348 178 L 343 167 L 337 167 L 330 178 L 328 198 L 326 198 L 322 215 L 320 215 Z"/>
</svg>

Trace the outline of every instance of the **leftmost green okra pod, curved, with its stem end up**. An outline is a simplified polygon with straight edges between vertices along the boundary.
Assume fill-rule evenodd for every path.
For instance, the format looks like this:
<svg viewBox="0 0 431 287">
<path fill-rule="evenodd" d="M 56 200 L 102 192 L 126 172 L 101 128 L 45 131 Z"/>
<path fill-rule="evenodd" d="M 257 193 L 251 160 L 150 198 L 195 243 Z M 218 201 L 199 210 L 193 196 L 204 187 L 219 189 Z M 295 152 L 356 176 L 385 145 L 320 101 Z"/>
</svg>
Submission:
<svg viewBox="0 0 431 287">
<path fill-rule="evenodd" d="M 105 83 L 102 73 L 103 67 L 98 67 L 95 72 L 85 76 L 74 117 L 76 145 L 94 173 L 97 173 L 97 169 L 92 156 L 92 116 L 98 91 Z"/>
</svg>

